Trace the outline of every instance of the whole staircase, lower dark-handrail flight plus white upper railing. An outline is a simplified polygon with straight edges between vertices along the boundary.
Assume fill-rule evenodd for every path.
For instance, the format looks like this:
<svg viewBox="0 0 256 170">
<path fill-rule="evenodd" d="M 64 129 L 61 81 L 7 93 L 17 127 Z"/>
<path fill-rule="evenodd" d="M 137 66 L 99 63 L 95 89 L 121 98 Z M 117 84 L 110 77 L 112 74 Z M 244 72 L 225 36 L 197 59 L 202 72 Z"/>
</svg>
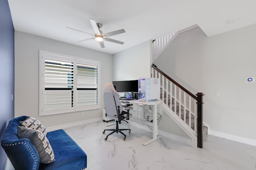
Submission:
<svg viewBox="0 0 256 170">
<path fill-rule="evenodd" d="M 172 43 L 180 33 L 198 27 L 193 25 L 178 32 L 152 41 L 152 62 Z M 152 64 L 152 78 L 160 78 L 161 100 L 164 112 L 192 139 L 191 145 L 203 147 L 203 135 L 207 127 L 203 125 L 203 93 L 192 94 L 164 72 Z"/>
</svg>

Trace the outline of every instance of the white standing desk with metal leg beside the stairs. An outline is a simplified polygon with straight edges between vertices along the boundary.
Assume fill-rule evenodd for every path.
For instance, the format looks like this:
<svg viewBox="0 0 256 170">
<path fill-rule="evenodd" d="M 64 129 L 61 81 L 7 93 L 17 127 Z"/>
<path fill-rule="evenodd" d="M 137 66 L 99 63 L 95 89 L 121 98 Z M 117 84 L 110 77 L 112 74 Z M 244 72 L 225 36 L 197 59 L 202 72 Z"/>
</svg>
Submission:
<svg viewBox="0 0 256 170">
<path fill-rule="evenodd" d="M 154 109 L 153 109 L 153 138 L 150 139 L 149 141 L 142 143 L 142 145 L 146 146 L 162 137 L 162 136 L 158 136 L 158 126 L 157 126 L 157 105 L 161 104 L 162 100 L 154 101 L 154 102 L 139 102 L 138 100 L 120 100 L 120 101 L 137 104 L 138 106 L 151 105 L 154 107 Z"/>
</svg>

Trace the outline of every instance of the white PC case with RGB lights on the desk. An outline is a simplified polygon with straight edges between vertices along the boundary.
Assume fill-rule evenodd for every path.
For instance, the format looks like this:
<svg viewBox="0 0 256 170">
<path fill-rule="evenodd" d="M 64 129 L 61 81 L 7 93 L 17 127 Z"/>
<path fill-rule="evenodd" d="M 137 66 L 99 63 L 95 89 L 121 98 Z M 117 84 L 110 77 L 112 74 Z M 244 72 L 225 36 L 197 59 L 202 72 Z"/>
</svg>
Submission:
<svg viewBox="0 0 256 170">
<path fill-rule="evenodd" d="M 160 99 L 160 79 L 140 78 L 138 91 L 138 100 L 141 102 L 152 102 Z"/>
</svg>

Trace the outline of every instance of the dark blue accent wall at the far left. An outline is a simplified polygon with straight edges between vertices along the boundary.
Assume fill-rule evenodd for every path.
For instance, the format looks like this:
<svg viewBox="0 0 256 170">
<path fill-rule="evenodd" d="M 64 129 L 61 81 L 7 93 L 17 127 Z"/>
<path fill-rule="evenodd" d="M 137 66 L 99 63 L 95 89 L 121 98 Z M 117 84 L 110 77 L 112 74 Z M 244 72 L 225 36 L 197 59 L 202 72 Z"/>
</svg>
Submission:
<svg viewBox="0 0 256 170">
<path fill-rule="evenodd" d="M 13 95 L 13 99 L 12 99 Z M 8 0 L 0 0 L 0 139 L 14 118 L 14 27 Z M 0 147 L 0 170 L 7 156 Z"/>
</svg>

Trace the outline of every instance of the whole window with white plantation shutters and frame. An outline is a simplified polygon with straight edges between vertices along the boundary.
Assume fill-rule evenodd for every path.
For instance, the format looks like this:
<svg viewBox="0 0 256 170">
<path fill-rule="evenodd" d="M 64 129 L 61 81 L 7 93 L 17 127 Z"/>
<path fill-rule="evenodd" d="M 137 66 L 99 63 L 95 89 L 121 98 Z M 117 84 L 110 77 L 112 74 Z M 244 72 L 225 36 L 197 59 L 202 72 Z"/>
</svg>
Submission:
<svg viewBox="0 0 256 170">
<path fill-rule="evenodd" d="M 39 115 L 100 108 L 100 61 L 40 51 Z"/>
</svg>

